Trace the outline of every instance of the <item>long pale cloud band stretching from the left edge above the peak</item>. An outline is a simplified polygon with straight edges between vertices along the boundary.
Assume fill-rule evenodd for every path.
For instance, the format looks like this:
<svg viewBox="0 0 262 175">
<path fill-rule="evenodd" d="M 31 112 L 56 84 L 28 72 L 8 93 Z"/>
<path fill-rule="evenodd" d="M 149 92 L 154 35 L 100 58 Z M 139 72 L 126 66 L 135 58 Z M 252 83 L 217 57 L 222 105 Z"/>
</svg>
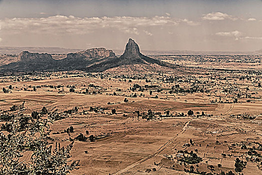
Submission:
<svg viewBox="0 0 262 175">
<path fill-rule="evenodd" d="M 188 25 L 197 24 L 188 19 L 176 19 L 170 16 L 75 17 L 55 15 L 40 18 L 4 18 L 0 19 L 0 26 L 3 32 L 10 34 L 85 34 L 95 32 L 97 29 L 117 29 L 124 33 L 139 34 L 139 30 L 143 31 L 146 27 L 175 26 L 180 22 Z M 150 32 L 143 32 L 152 35 Z"/>
</svg>

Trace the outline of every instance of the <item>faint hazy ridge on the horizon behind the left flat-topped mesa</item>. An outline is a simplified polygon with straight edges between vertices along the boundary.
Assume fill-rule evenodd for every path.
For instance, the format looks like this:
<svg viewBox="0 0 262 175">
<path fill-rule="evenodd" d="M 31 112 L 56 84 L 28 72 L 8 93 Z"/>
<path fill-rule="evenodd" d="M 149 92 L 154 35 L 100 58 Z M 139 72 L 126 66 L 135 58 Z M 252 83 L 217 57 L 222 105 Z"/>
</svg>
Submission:
<svg viewBox="0 0 262 175">
<path fill-rule="evenodd" d="M 82 49 L 60 48 L 60 47 L 9 47 L 9 46 L 0 46 L 0 54 L 19 54 L 23 50 L 27 50 L 29 52 L 39 52 L 39 53 L 70 53 L 70 52 L 80 51 Z"/>
</svg>

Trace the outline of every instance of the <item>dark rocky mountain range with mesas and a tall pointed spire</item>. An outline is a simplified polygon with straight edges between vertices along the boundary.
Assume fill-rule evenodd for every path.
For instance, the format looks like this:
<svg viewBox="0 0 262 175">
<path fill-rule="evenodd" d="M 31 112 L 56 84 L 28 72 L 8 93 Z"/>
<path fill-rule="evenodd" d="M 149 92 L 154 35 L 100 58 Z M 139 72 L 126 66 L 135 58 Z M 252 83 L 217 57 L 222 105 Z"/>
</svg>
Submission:
<svg viewBox="0 0 262 175">
<path fill-rule="evenodd" d="M 124 53 L 116 57 L 112 50 L 91 48 L 68 53 L 63 59 L 53 59 L 48 53 L 30 53 L 22 51 L 17 61 L 0 66 L 1 71 L 34 71 L 34 70 L 86 70 L 104 71 L 121 65 L 157 64 L 175 68 L 177 65 L 147 57 L 140 53 L 138 45 L 129 39 Z"/>
</svg>

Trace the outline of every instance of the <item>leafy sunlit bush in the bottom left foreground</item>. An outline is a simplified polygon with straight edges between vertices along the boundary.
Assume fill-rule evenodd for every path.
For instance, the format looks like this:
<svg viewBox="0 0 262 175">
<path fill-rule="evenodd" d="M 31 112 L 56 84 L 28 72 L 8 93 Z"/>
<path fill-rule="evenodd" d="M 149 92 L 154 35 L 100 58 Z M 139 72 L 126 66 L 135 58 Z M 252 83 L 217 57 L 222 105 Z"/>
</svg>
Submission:
<svg viewBox="0 0 262 175">
<path fill-rule="evenodd" d="M 31 119 L 21 127 L 20 119 L 11 120 L 8 134 L 0 132 L 0 174 L 67 174 L 79 166 L 69 161 L 71 142 L 66 147 L 49 144 L 49 119 Z"/>
</svg>

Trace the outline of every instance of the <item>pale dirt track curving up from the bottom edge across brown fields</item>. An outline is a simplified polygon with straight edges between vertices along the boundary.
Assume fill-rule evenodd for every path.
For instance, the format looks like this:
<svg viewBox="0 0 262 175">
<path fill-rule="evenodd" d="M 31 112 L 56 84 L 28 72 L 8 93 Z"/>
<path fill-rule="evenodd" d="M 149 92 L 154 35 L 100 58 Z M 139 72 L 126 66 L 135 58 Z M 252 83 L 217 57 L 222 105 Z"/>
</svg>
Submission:
<svg viewBox="0 0 262 175">
<path fill-rule="evenodd" d="M 115 173 L 113 173 L 113 174 L 121 174 L 121 173 L 127 171 L 128 169 L 130 169 L 130 168 L 138 165 L 139 163 L 141 163 L 141 162 L 143 162 L 143 161 L 145 161 L 145 160 L 147 160 L 147 159 L 149 159 L 149 158 L 157 155 L 159 152 L 161 152 L 163 149 L 165 149 L 169 144 L 171 144 L 174 140 L 176 140 L 181 134 L 183 134 L 184 131 L 186 130 L 188 124 L 189 124 L 191 121 L 196 120 L 196 119 L 199 119 L 199 118 L 193 118 L 193 119 L 187 121 L 187 122 L 184 124 L 182 130 L 181 130 L 177 135 L 175 135 L 174 137 L 172 137 L 169 141 L 167 141 L 164 145 L 162 145 L 156 152 L 154 152 L 154 153 L 152 153 L 152 154 L 150 154 L 150 155 L 148 155 L 148 156 L 146 156 L 146 157 L 144 157 L 144 158 L 142 158 L 142 159 L 140 159 L 140 160 L 138 160 L 138 161 L 136 161 L 136 162 L 134 162 L 134 163 L 132 163 L 132 164 L 130 164 L 130 165 L 128 165 L 128 166 L 126 166 L 126 167 L 123 168 L 123 169 L 118 170 L 117 172 L 115 172 Z"/>
</svg>

